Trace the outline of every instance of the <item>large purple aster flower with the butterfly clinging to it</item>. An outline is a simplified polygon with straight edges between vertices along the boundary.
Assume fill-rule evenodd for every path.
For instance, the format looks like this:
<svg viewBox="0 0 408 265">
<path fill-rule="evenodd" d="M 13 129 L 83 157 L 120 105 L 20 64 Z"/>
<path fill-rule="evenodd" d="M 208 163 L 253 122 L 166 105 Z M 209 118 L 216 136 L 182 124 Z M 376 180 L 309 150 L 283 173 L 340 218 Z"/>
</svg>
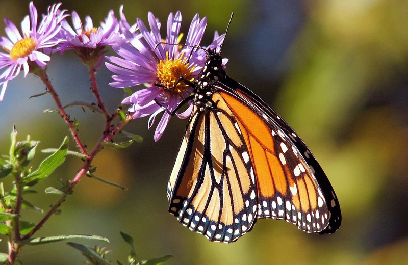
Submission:
<svg viewBox="0 0 408 265">
<path fill-rule="evenodd" d="M 158 20 L 149 12 L 148 21 L 151 31 L 138 18 L 137 25 L 143 38 L 135 36 L 126 29 L 123 30 L 125 39 L 116 38 L 117 45 L 113 49 L 121 56 L 107 57 L 111 63 L 106 63 L 109 70 L 116 73 L 112 78 L 116 82 L 110 83 L 116 88 L 132 87 L 148 84 L 148 88 L 139 90 L 125 98 L 123 104 L 132 104 L 129 111 L 133 118 L 150 115 L 149 129 L 154 124 L 156 116 L 163 112 L 163 116 L 156 128 L 155 141 L 158 141 L 170 120 L 170 115 L 163 110 L 165 107 L 173 111 L 184 98 L 188 97 L 192 88 L 188 85 L 176 83 L 180 76 L 194 81 L 205 64 L 206 53 L 196 48 L 204 35 L 207 19 L 200 20 L 196 14 L 191 22 L 185 45 L 178 45 L 183 34 L 180 34 L 182 16 L 180 12 L 170 13 L 167 20 L 167 37 L 163 42 L 160 35 Z M 224 35 L 216 36 L 211 44 L 219 48 Z M 159 44 L 159 45 L 158 45 Z M 173 89 L 174 88 L 174 89 Z M 156 101 L 160 103 L 156 103 Z M 177 117 L 185 119 L 193 109 L 191 102 L 183 113 L 176 113 Z"/>
</svg>

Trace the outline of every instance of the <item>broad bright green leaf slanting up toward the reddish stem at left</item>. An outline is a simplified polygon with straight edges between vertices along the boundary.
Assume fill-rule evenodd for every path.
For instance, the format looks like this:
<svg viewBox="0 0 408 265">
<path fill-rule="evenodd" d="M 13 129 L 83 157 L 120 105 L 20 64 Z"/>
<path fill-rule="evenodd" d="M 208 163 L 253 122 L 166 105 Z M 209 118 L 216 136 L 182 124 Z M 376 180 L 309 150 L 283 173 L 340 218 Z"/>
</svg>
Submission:
<svg viewBox="0 0 408 265">
<path fill-rule="evenodd" d="M 67 153 L 68 153 L 68 137 L 65 137 L 60 148 L 58 148 L 58 150 L 54 154 L 45 158 L 45 160 L 41 163 L 40 167 L 36 171 L 32 172 L 27 177 L 25 177 L 22 180 L 22 183 L 25 186 L 33 186 L 38 182 L 44 180 L 65 161 Z"/>
</svg>

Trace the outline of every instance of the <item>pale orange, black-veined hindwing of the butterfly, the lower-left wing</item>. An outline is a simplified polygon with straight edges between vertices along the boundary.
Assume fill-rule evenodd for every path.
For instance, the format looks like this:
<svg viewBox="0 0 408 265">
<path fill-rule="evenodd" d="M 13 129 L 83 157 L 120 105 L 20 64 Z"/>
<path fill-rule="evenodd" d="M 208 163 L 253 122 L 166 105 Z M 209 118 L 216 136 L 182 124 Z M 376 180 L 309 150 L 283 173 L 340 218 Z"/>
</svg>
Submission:
<svg viewBox="0 0 408 265">
<path fill-rule="evenodd" d="M 232 129 L 229 134 L 225 127 Z M 194 110 L 168 184 L 170 213 L 211 241 L 229 243 L 250 231 L 257 189 L 243 153 L 231 116 Z"/>
</svg>

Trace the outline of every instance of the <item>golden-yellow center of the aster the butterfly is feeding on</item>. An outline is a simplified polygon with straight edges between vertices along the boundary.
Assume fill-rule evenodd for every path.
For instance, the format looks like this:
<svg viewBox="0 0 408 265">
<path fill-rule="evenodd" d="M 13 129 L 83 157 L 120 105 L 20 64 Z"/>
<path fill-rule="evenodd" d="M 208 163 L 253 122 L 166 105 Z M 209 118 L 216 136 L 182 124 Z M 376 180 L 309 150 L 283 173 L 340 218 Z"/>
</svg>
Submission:
<svg viewBox="0 0 408 265">
<path fill-rule="evenodd" d="M 188 69 L 189 63 L 187 62 L 187 57 L 183 57 L 183 54 L 177 60 L 170 60 L 168 52 L 166 53 L 166 60 L 161 60 L 157 65 L 157 72 L 156 76 L 158 78 L 158 82 L 160 85 L 164 86 L 165 88 L 169 88 L 167 91 L 169 93 L 176 93 L 180 94 L 186 91 L 189 87 L 184 82 L 179 82 L 180 76 L 183 76 L 187 80 L 193 82 L 193 74 L 192 71 L 194 67 L 190 70 Z M 176 84 L 177 83 L 177 84 Z M 174 88 L 175 86 L 175 88 Z M 174 89 L 173 89 L 174 88 Z"/>
</svg>

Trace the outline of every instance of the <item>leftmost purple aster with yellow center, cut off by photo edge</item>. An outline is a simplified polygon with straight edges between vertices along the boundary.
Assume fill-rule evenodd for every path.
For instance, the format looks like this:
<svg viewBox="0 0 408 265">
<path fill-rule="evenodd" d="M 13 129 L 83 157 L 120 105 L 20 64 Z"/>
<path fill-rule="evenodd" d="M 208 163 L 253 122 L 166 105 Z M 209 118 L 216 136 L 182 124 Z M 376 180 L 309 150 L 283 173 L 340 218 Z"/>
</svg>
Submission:
<svg viewBox="0 0 408 265">
<path fill-rule="evenodd" d="M 66 15 L 66 10 L 60 11 L 61 3 L 48 7 L 48 14 L 42 16 L 42 21 L 37 24 L 37 9 L 33 2 L 30 2 L 30 15 L 24 17 L 21 22 L 22 35 L 13 22 L 4 19 L 6 23 L 6 37 L 0 37 L 0 46 L 7 53 L 0 52 L 0 69 L 7 69 L 0 75 L 0 85 L 3 85 L 0 93 L 0 101 L 3 101 L 7 84 L 10 80 L 17 77 L 24 69 L 24 77 L 30 71 L 30 68 L 46 65 L 50 57 L 42 52 L 58 44 L 61 39 L 55 36 L 61 30 L 60 22 Z"/>
</svg>

